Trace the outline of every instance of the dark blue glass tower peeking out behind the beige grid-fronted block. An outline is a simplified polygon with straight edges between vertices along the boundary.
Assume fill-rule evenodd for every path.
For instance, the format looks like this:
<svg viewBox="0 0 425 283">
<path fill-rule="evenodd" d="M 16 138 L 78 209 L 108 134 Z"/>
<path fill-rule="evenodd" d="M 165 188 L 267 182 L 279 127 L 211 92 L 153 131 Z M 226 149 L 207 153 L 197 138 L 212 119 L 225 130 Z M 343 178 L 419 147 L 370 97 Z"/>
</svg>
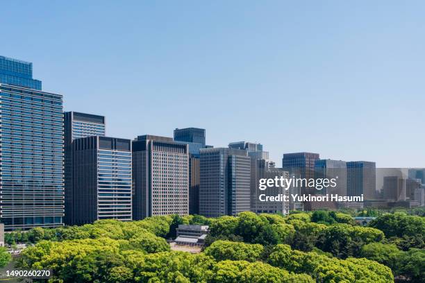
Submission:
<svg viewBox="0 0 425 283">
<path fill-rule="evenodd" d="M 199 151 L 206 148 L 205 129 L 176 129 L 174 141 L 189 146 L 189 213 L 199 214 Z"/>
</svg>

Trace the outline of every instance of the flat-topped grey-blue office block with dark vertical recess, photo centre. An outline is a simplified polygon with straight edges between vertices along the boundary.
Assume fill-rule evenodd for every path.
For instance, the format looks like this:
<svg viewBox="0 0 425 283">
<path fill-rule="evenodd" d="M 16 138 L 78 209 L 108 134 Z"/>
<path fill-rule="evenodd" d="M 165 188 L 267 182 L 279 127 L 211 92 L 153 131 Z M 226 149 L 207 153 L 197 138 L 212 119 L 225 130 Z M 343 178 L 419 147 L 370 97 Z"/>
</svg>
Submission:
<svg viewBox="0 0 425 283">
<path fill-rule="evenodd" d="M 247 151 L 204 148 L 199 157 L 199 214 L 233 215 L 251 209 L 251 159 Z"/>
</svg>

